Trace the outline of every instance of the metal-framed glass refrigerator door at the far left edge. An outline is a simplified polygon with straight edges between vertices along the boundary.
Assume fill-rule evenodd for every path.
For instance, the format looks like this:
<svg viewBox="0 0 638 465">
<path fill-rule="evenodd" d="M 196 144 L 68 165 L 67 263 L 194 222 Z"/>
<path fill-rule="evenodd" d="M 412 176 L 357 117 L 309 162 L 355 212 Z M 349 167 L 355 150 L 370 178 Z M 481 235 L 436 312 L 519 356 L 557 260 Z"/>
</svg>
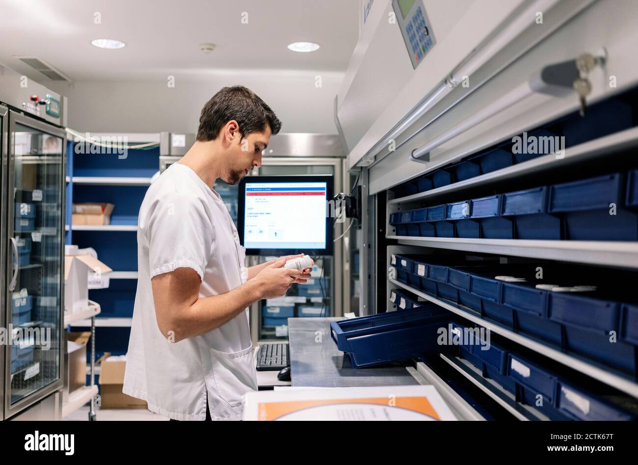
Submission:
<svg viewBox="0 0 638 465">
<path fill-rule="evenodd" d="M 1 348 L 4 364 L 0 365 L 4 367 L 2 418 L 7 419 L 60 390 L 63 384 L 60 337 L 66 137 L 63 129 L 7 107 L 0 107 L 0 121 L 1 318 L 11 337 L 11 343 Z M 47 418 L 57 416 L 59 413 Z"/>
</svg>

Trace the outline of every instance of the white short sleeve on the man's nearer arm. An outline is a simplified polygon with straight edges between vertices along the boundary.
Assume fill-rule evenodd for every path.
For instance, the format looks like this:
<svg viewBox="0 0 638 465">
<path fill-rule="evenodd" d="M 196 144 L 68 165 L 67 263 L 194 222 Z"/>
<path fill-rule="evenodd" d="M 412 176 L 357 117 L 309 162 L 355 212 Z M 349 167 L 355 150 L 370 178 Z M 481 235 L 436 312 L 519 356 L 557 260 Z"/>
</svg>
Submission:
<svg viewBox="0 0 638 465">
<path fill-rule="evenodd" d="M 154 203 L 149 213 L 151 277 L 188 267 L 203 281 L 214 241 L 205 200 L 193 194 L 168 193 Z"/>
</svg>

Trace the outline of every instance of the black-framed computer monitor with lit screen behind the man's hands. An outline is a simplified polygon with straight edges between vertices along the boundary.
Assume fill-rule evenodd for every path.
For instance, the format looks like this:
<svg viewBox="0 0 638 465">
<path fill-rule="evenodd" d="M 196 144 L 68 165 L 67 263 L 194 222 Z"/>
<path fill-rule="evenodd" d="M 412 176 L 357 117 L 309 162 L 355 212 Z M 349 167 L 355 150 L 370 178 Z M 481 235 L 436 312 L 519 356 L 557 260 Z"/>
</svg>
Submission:
<svg viewBox="0 0 638 465">
<path fill-rule="evenodd" d="M 237 229 L 246 255 L 332 255 L 332 175 L 248 176 Z"/>
</svg>

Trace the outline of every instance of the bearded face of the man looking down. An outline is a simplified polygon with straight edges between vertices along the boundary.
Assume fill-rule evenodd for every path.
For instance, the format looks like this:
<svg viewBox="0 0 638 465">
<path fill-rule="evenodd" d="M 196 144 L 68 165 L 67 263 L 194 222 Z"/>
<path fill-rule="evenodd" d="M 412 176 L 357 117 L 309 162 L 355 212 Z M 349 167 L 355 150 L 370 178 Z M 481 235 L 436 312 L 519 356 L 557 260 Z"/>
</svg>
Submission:
<svg viewBox="0 0 638 465">
<path fill-rule="evenodd" d="M 228 165 L 221 179 L 228 184 L 237 184 L 255 166 L 262 166 L 262 151 L 271 140 L 271 128 L 266 125 L 262 132 L 253 132 L 246 137 L 235 137 L 228 151 Z"/>
</svg>

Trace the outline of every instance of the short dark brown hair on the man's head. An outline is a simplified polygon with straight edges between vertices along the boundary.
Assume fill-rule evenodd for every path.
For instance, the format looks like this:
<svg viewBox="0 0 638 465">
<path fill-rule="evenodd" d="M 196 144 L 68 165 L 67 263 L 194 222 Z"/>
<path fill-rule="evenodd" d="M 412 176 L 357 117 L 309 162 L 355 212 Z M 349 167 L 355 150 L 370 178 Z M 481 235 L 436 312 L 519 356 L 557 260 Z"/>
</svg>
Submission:
<svg viewBox="0 0 638 465">
<path fill-rule="evenodd" d="M 266 124 L 275 135 L 281 129 L 277 115 L 255 92 L 243 85 L 224 87 L 206 102 L 200 115 L 197 140 L 206 142 L 217 138 L 219 131 L 231 120 L 239 124 L 242 137 L 264 131 Z"/>
</svg>

